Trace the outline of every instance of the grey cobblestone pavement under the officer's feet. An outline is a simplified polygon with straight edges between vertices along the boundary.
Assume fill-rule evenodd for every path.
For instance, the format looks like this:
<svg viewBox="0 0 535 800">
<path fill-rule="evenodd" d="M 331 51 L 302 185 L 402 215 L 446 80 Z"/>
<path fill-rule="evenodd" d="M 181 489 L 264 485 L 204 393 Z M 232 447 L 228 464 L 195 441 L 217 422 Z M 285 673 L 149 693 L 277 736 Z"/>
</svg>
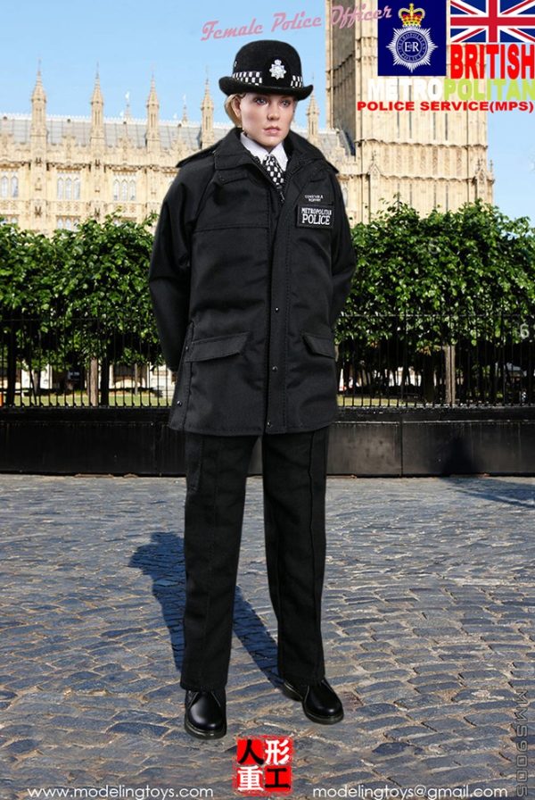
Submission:
<svg viewBox="0 0 535 800">
<path fill-rule="evenodd" d="M 279 688 L 250 478 L 229 729 L 214 742 L 183 729 L 184 498 L 183 478 L 0 476 L 1 800 L 105 786 L 232 798 L 235 738 L 251 734 L 294 737 L 300 800 L 515 796 L 521 739 L 534 796 L 535 479 L 328 480 L 323 629 L 346 716 L 322 726 Z"/>
</svg>

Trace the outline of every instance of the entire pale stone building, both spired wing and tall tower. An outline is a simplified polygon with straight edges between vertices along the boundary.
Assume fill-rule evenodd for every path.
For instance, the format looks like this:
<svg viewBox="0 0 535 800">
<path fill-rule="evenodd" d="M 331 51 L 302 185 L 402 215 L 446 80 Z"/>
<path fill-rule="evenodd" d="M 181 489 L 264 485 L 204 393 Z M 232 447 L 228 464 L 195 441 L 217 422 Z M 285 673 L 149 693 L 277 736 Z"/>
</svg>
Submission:
<svg viewBox="0 0 535 800">
<path fill-rule="evenodd" d="M 320 129 L 314 95 L 307 127 L 294 129 L 319 146 L 340 171 L 350 221 L 368 221 L 396 196 L 428 213 L 481 197 L 492 201 L 484 112 L 358 111 L 367 79 L 376 76 L 376 21 L 331 24 L 325 0 L 327 127 Z M 158 212 L 176 163 L 223 137 L 229 124 L 213 120 L 206 83 L 201 121 L 161 121 L 152 79 L 145 119 L 104 117 L 98 75 L 90 116 L 46 114 L 40 71 L 31 113 L 0 112 L 0 217 L 50 233 L 74 229 L 87 217 L 120 210 L 142 221 Z"/>
</svg>

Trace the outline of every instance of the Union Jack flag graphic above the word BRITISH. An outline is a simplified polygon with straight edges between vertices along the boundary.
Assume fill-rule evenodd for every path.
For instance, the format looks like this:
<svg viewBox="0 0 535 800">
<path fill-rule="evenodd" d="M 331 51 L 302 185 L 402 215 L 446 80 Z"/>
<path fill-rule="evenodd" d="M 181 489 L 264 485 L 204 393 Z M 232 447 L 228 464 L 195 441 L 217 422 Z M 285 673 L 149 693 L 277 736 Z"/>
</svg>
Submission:
<svg viewBox="0 0 535 800">
<path fill-rule="evenodd" d="M 535 43 L 535 0 L 450 0 L 450 42 Z"/>
</svg>

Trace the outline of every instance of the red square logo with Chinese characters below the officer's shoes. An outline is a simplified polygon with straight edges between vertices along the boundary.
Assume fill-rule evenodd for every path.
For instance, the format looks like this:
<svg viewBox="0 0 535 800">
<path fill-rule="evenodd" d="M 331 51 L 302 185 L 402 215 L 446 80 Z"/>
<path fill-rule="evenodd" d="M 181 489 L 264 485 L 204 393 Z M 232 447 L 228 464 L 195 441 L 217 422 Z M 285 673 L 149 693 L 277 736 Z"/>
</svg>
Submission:
<svg viewBox="0 0 535 800">
<path fill-rule="evenodd" d="M 241 795 L 268 795 L 292 791 L 291 737 L 239 738 L 233 787 Z"/>
</svg>

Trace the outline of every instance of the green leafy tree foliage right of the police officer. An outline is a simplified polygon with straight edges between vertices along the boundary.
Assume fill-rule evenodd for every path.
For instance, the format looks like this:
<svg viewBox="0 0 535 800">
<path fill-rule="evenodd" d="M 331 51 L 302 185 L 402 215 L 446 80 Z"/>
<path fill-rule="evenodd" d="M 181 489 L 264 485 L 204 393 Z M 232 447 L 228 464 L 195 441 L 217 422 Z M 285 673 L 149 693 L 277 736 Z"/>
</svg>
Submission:
<svg viewBox="0 0 535 800">
<path fill-rule="evenodd" d="M 535 229 L 480 201 L 420 217 L 402 203 L 353 229 L 358 265 L 338 340 L 373 342 L 404 318 L 422 349 L 481 335 L 535 306 Z M 490 333 L 490 331 L 488 331 Z"/>
</svg>

